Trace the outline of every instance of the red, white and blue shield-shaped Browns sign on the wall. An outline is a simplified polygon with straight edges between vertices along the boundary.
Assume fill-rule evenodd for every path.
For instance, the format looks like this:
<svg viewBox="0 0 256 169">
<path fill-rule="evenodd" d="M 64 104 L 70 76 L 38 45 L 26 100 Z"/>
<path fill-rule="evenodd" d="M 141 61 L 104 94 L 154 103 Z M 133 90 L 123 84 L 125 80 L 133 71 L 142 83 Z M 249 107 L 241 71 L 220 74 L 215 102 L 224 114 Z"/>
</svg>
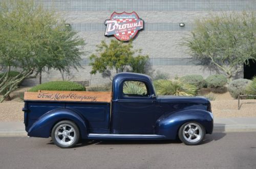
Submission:
<svg viewBox="0 0 256 169">
<path fill-rule="evenodd" d="M 143 29 L 143 20 L 136 12 L 114 12 L 109 20 L 105 20 L 105 25 L 105 36 L 114 35 L 118 40 L 129 41 L 136 36 L 139 30 Z"/>
</svg>

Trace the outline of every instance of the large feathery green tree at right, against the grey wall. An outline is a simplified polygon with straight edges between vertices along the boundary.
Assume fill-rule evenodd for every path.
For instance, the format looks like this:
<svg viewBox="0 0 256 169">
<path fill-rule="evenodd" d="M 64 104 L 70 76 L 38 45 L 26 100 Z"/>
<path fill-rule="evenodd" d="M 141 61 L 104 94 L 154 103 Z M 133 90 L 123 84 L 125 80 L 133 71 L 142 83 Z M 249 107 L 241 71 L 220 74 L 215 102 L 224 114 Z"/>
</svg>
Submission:
<svg viewBox="0 0 256 169">
<path fill-rule="evenodd" d="M 255 11 L 200 18 L 183 45 L 194 59 L 215 66 L 230 81 L 249 59 L 256 60 L 255 23 Z"/>
</svg>

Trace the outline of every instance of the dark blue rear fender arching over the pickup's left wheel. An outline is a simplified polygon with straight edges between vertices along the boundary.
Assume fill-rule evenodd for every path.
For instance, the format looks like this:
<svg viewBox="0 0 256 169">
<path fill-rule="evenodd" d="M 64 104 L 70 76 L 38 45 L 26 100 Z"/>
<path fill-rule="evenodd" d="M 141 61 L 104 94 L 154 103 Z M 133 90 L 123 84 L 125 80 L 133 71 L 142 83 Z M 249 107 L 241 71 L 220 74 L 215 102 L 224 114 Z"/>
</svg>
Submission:
<svg viewBox="0 0 256 169">
<path fill-rule="evenodd" d="M 53 126 L 61 120 L 72 120 L 78 126 L 81 138 L 88 137 L 85 120 L 80 114 L 70 109 L 55 109 L 42 115 L 28 130 L 28 136 L 48 138 Z"/>
</svg>

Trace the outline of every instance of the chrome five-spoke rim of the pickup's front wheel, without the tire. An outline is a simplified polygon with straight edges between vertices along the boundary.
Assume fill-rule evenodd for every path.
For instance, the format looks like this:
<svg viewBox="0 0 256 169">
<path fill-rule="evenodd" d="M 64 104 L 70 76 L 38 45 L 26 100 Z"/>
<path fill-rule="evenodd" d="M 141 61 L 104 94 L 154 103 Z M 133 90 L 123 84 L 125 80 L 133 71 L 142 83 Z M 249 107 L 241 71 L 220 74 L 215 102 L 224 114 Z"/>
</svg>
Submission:
<svg viewBox="0 0 256 169">
<path fill-rule="evenodd" d="M 196 123 L 189 123 L 183 128 L 183 137 L 189 142 L 197 142 L 202 138 L 202 128 Z"/>
</svg>

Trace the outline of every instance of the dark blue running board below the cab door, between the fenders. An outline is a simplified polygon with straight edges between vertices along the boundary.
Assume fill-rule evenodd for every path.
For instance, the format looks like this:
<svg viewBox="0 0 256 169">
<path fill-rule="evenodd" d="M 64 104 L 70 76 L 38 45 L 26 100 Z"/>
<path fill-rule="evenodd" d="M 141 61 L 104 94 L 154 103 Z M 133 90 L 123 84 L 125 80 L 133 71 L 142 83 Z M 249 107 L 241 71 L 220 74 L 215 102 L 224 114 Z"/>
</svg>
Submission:
<svg viewBox="0 0 256 169">
<path fill-rule="evenodd" d="M 156 140 L 164 139 L 164 135 L 156 134 L 94 134 L 90 133 L 88 139 L 131 139 L 131 140 Z"/>
</svg>

